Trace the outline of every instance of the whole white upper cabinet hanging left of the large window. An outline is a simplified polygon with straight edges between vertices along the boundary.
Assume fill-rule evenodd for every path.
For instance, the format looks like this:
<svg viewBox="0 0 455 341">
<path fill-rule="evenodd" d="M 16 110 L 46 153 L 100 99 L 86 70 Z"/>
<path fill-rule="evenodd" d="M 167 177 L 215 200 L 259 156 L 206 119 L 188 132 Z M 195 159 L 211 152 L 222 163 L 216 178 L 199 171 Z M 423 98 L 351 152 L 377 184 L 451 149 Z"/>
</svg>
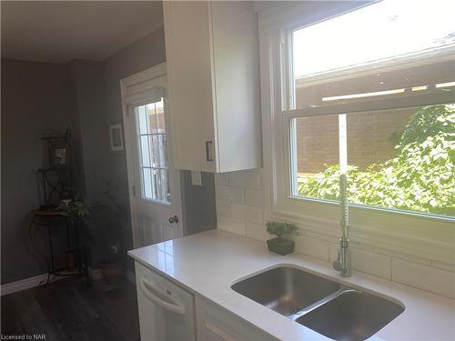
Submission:
<svg viewBox="0 0 455 341">
<path fill-rule="evenodd" d="M 250 2 L 165 1 L 174 165 L 262 167 L 258 18 Z"/>
</svg>

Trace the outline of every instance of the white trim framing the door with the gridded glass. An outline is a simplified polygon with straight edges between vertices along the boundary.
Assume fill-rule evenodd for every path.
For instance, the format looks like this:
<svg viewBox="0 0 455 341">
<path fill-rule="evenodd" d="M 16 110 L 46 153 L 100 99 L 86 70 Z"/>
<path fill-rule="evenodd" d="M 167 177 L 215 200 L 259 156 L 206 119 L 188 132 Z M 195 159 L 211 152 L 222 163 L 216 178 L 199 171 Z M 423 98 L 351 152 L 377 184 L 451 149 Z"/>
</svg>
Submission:
<svg viewBox="0 0 455 341">
<path fill-rule="evenodd" d="M 129 205 L 130 205 L 130 224 L 131 224 L 131 232 L 133 235 L 133 247 L 139 247 L 139 239 L 138 234 L 136 231 L 136 204 L 135 204 L 135 193 L 137 196 L 137 191 L 140 188 L 136 188 L 136 191 L 133 191 L 133 186 L 135 186 L 135 178 L 134 178 L 134 167 L 133 163 L 134 155 L 131 152 L 132 144 L 134 143 L 134 136 L 131 135 L 131 126 L 130 126 L 130 117 L 128 106 L 134 105 L 138 102 L 144 100 L 144 97 L 147 97 L 147 93 L 151 89 L 150 83 L 158 77 L 163 75 L 167 75 L 167 66 L 166 63 L 158 64 L 147 68 L 141 72 L 138 72 L 134 75 L 129 75 L 120 80 L 120 93 L 122 98 L 122 119 L 123 119 L 123 126 L 124 126 L 124 135 L 125 135 L 125 154 L 126 154 L 126 168 L 127 168 L 127 177 L 128 177 L 128 194 L 129 194 Z M 169 134 L 170 135 L 170 134 Z M 167 140 L 168 144 L 172 144 L 172 141 Z M 172 147 L 169 145 L 167 148 Z M 176 181 L 180 184 L 180 173 L 176 172 Z M 181 194 L 180 194 L 181 196 Z M 181 198 L 180 198 L 181 200 Z M 182 211 L 182 203 L 177 203 L 177 209 Z M 182 228 L 182 232 L 185 233 L 185 225 L 183 221 L 183 215 L 179 215 L 181 217 L 180 224 Z"/>
</svg>

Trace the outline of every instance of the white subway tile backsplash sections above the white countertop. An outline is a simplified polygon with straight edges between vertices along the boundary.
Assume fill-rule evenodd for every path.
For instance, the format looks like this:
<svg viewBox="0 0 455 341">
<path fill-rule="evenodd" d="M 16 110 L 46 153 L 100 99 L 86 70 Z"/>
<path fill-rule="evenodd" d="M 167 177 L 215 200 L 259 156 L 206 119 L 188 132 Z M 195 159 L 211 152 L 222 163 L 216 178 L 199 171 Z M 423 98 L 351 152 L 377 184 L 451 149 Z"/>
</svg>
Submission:
<svg viewBox="0 0 455 341">
<path fill-rule="evenodd" d="M 261 169 L 215 175 L 218 228 L 261 242 L 272 237 L 265 226 L 263 181 Z M 298 253 L 330 262 L 338 256 L 338 244 L 327 236 L 302 230 L 295 240 Z M 352 244 L 355 270 L 455 298 L 455 265 Z"/>
</svg>

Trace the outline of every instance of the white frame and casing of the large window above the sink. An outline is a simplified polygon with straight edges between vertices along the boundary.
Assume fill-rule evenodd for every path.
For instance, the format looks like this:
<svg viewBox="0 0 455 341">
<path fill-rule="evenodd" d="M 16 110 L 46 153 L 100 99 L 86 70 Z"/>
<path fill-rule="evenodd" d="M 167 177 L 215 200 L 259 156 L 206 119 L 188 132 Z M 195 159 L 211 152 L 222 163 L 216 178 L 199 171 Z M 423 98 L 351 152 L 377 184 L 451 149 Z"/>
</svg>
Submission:
<svg viewBox="0 0 455 341">
<path fill-rule="evenodd" d="M 321 4 L 321 3 L 319 3 Z M 360 4 L 365 5 L 365 3 Z M 289 165 L 291 148 L 289 119 L 303 110 L 289 110 L 294 91 L 288 77 L 292 75 L 287 57 L 291 53 L 289 31 L 315 24 L 346 13 L 346 5 L 320 5 L 319 11 L 309 11 L 305 3 L 274 7 L 258 7 L 261 101 L 264 145 L 264 176 L 268 219 L 292 221 L 309 233 L 334 241 L 339 236 L 339 204 L 319 199 L 297 198 L 290 195 L 292 181 Z M 329 7 L 330 6 L 330 7 Z M 359 3 L 355 6 L 359 6 Z M 312 14 L 311 14 L 312 13 Z M 445 98 L 434 97 L 434 104 Z M 440 102 L 439 102 L 440 101 Z M 390 103 L 390 101 L 389 101 Z M 427 102 L 428 104 L 428 102 Z M 375 104 L 377 105 L 377 104 Z M 406 98 L 389 105 L 416 106 Z M 374 107 L 374 106 L 373 106 Z M 381 107 L 382 109 L 385 106 Z M 378 109 L 378 106 L 376 106 Z M 344 114 L 369 110 L 365 105 L 340 106 L 333 113 Z M 325 112 L 324 112 L 325 113 Z M 305 115 L 320 115 L 319 109 L 305 110 Z M 387 249 L 409 256 L 455 264 L 455 219 L 430 216 L 373 206 L 350 206 L 350 239 L 354 243 Z"/>
</svg>

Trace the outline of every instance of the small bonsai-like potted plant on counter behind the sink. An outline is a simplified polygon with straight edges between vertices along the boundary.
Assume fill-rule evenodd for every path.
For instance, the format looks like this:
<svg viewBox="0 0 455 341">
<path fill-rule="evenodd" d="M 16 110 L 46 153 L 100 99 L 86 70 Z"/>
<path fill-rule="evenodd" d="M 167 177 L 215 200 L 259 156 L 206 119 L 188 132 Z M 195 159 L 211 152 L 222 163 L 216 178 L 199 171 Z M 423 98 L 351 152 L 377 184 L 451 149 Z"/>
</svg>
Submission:
<svg viewBox="0 0 455 341">
<path fill-rule="evenodd" d="M 270 235 L 277 236 L 276 238 L 268 239 L 268 251 L 281 256 L 292 254 L 296 243 L 293 240 L 283 238 L 283 236 L 297 235 L 297 226 L 288 222 L 281 223 L 277 221 L 269 221 L 266 226 Z"/>
</svg>

